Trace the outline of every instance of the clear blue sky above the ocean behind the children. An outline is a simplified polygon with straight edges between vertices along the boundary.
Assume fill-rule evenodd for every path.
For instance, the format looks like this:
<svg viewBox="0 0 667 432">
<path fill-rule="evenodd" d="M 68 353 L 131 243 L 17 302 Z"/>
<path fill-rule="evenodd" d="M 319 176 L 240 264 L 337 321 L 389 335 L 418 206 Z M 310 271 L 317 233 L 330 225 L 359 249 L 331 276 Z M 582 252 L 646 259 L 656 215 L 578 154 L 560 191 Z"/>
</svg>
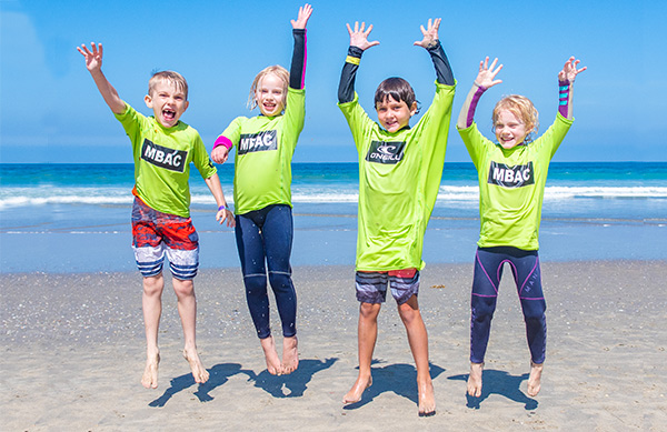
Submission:
<svg viewBox="0 0 667 432">
<path fill-rule="evenodd" d="M 131 162 L 129 141 L 76 47 L 104 46 L 103 71 L 121 98 L 143 103 L 153 70 L 190 86 L 182 120 L 207 147 L 246 109 L 256 73 L 289 67 L 297 1 L 0 0 L 0 162 Z M 454 129 L 479 60 L 498 57 L 504 83 L 482 98 L 476 120 L 490 137 L 504 94 L 530 98 L 542 131 L 557 109 L 557 72 L 569 56 L 588 70 L 575 84 L 576 122 L 556 161 L 667 161 L 665 2 L 312 1 L 308 24 L 307 118 L 296 162 L 357 160 L 337 102 L 349 37 L 346 22 L 375 26 L 357 78 L 362 106 L 390 76 L 407 79 L 427 108 L 435 72 L 412 47 L 420 24 L 441 17 L 440 40 L 458 80 L 447 161 L 468 161 Z M 526 7 L 528 6 L 529 7 Z M 646 6 L 645 6 L 646 4 Z M 649 6 L 650 4 L 650 6 Z M 412 121 L 412 123 L 415 120 Z"/>
</svg>

